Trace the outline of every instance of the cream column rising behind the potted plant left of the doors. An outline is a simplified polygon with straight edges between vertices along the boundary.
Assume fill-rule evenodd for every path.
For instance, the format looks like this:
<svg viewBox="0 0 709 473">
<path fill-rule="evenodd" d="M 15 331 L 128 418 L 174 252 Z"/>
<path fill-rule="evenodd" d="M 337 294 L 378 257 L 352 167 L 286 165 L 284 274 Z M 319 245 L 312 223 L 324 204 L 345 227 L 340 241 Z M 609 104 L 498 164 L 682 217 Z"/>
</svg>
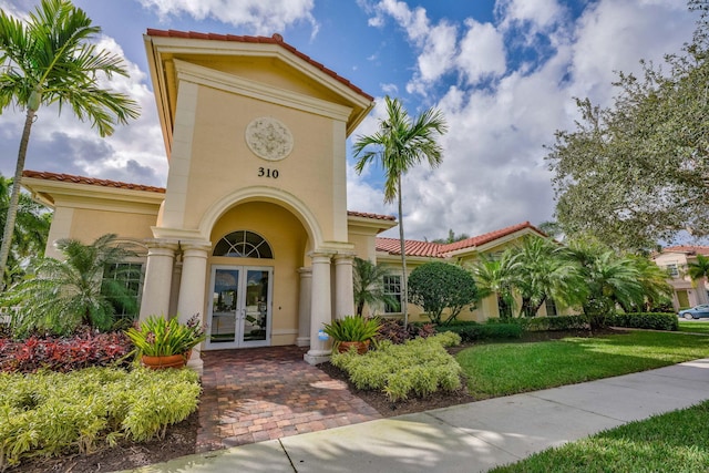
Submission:
<svg viewBox="0 0 709 473">
<path fill-rule="evenodd" d="M 205 286 L 207 281 L 207 255 L 212 244 L 195 241 L 181 243 L 182 254 L 182 280 L 179 282 L 179 297 L 177 299 L 177 317 L 182 323 L 198 313 L 202 326 L 206 323 L 204 311 Z M 202 373 L 203 362 L 199 356 L 201 346 L 192 351 L 187 366 Z"/>
</svg>

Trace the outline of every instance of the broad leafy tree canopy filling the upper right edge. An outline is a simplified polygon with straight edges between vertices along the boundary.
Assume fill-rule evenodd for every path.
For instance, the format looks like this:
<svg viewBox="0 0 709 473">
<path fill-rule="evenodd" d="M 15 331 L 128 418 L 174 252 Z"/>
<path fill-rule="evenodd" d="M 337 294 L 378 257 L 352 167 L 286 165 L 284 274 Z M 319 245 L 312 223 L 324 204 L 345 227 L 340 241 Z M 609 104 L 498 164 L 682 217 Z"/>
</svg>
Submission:
<svg viewBox="0 0 709 473">
<path fill-rule="evenodd" d="M 634 250 L 709 235 L 709 0 L 689 8 L 700 20 L 681 53 L 619 73 L 607 109 L 577 99 L 575 130 L 556 132 L 546 160 L 567 235 Z"/>
</svg>

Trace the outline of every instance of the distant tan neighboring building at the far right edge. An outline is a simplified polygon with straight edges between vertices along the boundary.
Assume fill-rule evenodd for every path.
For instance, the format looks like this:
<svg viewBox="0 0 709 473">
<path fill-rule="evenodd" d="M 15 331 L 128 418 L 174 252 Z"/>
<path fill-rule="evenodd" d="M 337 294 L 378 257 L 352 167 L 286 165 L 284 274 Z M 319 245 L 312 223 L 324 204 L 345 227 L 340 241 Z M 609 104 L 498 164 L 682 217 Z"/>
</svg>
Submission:
<svg viewBox="0 0 709 473">
<path fill-rule="evenodd" d="M 706 281 L 692 281 L 687 273 L 687 265 L 696 263 L 697 255 L 709 256 L 709 246 L 670 246 L 653 256 L 657 266 L 666 269 L 669 275 L 675 310 L 709 302 Z"/>
</svg>

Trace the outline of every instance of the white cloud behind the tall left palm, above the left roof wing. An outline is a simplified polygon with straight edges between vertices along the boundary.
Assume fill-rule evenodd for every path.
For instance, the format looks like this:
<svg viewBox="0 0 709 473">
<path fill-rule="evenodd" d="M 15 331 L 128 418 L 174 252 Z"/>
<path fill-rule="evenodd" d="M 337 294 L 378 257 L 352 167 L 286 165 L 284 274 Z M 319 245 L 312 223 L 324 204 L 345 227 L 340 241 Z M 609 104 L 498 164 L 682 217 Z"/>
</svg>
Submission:
<svg viewBox="0 0 709 473">
<path fill-rule="evenodd" d="M 99 49 L 123 56 L 123 50 L 111 38 L 101 38 Z M 125 62 L 130 78 L 113 75 L 103 85 L 130 95 L 138 102 L 141 116 L 127 126 L 116 125 L 113 135 L 102 138 L 90 123 L 81 122 L 71 109 L 61 115 L 55 105 L 41 107 L 32 125 L 25 169 L 78 174 L 138 184 L 165 185 L 167 158 L 158 125 L 155 99 L 148 90 L 146 74 L 136 64 Z M 0 172 L 14 173 L 14 162 L 24 112 L 8 109 L 0 115 Z"/>
</svg>

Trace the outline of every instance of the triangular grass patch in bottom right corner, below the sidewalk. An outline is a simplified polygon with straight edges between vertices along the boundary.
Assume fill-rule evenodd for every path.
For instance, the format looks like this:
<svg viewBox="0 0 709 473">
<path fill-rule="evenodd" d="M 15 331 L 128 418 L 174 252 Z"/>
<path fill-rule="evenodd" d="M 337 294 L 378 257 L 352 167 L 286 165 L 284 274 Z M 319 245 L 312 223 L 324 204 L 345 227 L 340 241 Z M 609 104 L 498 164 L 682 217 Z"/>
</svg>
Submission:
<svg viewBox="0 0 709 473">
<path fill-rule="evenodd" d="M 491 472 L 706 472 L 709 401 L 599 432 Z"/>
</svg>

